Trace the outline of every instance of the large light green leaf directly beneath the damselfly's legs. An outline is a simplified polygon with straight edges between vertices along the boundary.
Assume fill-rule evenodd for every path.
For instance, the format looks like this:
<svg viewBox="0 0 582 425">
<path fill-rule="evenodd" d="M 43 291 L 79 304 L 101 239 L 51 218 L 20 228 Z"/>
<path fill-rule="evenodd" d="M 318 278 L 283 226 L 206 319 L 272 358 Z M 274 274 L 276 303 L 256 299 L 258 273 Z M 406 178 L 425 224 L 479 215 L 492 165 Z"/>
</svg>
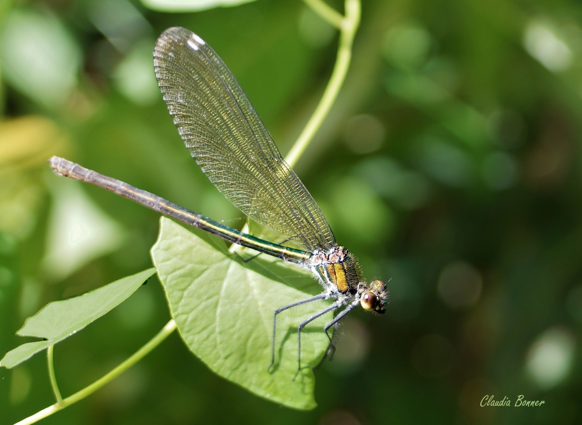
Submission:
<svg viewBox="0 0 582 425">
<path fill-rule="evenodd" d="M 322 332 L 331 314 L 315 320 L 301 334 L 297 371 L 297 326 L 329 305 L 315 302 L 278 316 L 275 368 L 271 363 L 273 313 L 276 308 L 321 293 L 311 273 L 260 255 L 244 263 L 225 243 L 200 230 L 191 233 L 163 218 L 151 250 L 173 319 L 190 350 L 208 367 L 254 394 L 296 409 L 315 408 L 317 365 L 328 347 Z"/>
</svg>

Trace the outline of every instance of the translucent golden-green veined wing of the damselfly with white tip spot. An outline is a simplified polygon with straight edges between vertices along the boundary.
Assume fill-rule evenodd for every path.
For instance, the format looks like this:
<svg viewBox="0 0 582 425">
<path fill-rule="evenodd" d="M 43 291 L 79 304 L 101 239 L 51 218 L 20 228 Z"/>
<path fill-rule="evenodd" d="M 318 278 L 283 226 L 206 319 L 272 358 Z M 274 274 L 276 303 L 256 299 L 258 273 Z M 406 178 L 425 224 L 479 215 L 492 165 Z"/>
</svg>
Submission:
<svg viewBox="0 0 582 425">
<path fill-rule="evenodd" d="M 168 28 L 156 42 L 154 68 L 182 140 L 226 198 L 308 250 L 336 246 L 320 207 L 210 46 L 186 28 Z"/>
</svg>

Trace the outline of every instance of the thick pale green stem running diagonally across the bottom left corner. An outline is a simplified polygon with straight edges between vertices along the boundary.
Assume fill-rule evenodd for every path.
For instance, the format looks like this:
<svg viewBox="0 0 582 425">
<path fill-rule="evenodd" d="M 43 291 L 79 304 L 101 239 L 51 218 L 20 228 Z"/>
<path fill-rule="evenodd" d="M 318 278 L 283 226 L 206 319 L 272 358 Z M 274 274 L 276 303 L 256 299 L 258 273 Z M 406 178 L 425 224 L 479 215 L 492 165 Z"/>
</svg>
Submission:
<svg viewBox="0 0 582 425">
<path fill-rule="evenodd" d="M 134 354 L 132 356 L 130 356 L 128 359 L 126 359 L 126 361 L 121 363 L 115 369 L 111 370 L 111 372 L 109 372 L 109 373 L 105 374 L 105 376 L 101 377 L 101 379 L 98 379 L 93 384 L 83 388 L 83 390 L 75 392 L 70 397 L 62 399 L 62 401 L 60 403 L 56 402 L 54 405 L 48 406 L 48 408 L 42 409 L 42 410 L 40 410 L 40 412 L 34 413 L 34 415 L 29 416 L 26 419 L 21 420 L 20 422 L 16 423 L 15 425 L 27 425 L 27 424 L 35 423 L 38 420 L 41 420 L 44 417 L 50 416 L 53 413 L 58 412 L 59 410 L 62 410 L 64 408 L 66 408 L 67 406 L 70 406 L 73 403 L 87 397 L 88 395 L 93 394 L 93 392 L 97 391 L 99 388 L 101 388 L 102 386 L 107 384 L 109 381 L 112 381 L 113 379 L 118 377 L 120 374 L 125 372 L 127 369 L 131 368 L 134 364 L 139 362 L 141 359 L 143 359 L 145 355 L 147 355 L 150 351 L 154 350 L 155 347 L 157 347 L 159 344 L 161 344 L 161 342 L 164 341 L 169 336 L 169 334 L 174 332 L 174 330 L 176 330 L 176 322 L 174 322 L 174 320 L 172 319 L 166 324 L 166 326 L 164 326 L 164 329 L 159 331 L 155 337 L 151 338 L 151 340 L 148 341 L 147 344 L 145 344 L 139 350 L 134 352 Z M 50 363 L 52 363 L 52 361 Z M 52 383 L 52 378 L 51 378 L 51 383 Z M 56 383 L 55 383 L 55 385 L 56 385 Z M 53 387 L 53 390 L 54 389 L 55 389 L 55 387 Z M 58 391 L 58 389 L 57 389 L 57 391 Z"/>
</svg>

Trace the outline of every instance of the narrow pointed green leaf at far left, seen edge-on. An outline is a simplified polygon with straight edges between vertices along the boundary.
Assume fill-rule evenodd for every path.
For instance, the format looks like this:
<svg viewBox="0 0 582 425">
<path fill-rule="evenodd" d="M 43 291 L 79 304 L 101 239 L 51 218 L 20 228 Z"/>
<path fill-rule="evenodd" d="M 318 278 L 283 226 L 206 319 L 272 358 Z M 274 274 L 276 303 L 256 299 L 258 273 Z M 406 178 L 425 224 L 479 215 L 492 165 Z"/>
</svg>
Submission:
<svg viewBox="0 0 582 425">
<path fill-rule="evenodd" d="M 133 294 L 155 268 L 116 280 L 99 289 L 63 301 L 49 302 L 36 315 L 29 317 L 16 332 L 20 336 L 45 338 L 46 341 L 22 344 L 6 353 L 0 366 L 6 369 L 28 360 L 49 345 L 54 345 L 83 329 Z"/>
</svg>

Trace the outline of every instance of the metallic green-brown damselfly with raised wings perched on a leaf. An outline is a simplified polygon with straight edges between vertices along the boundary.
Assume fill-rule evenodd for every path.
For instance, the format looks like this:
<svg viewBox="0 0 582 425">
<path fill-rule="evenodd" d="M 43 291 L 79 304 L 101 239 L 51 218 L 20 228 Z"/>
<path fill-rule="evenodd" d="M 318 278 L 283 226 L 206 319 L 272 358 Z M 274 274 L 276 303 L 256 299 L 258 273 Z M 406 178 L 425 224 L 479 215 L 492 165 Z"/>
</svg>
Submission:
<svg viewBox="0 0 582 425">
<path fill-rule="evenodd" d="M 294 380 L 301 370 L 301 330 L 333 312 L 323 329 L 329 338 L 323 359 L 332 356 L 339 321 L 358 304 L 365 311 L 383 314 L 388 303 L 386 286 L 381 280 L 369 284 L 363 280 L 357 258 L 338 245 L 321 208 L 281 156 L 233 74 L 203 39 L 186 28 L 168 28 L 155 44 L 154 70 L 173 122 L 204 174 L 240 211 L 285 238 L 283 243 L 302 249 L 244 233 L 66 159 L 54 156 L 49 164 L 59 175 L 111 190 L 162 215 L 252 248 L 258 255 L 272 255 L 310 269 L 323 287 L 322 293 L 285 305 L 273 314 L 268 370 L 275 363 L 277 316 L 308 302 L 333 300 L 297 327 Z"/>
</svg>

